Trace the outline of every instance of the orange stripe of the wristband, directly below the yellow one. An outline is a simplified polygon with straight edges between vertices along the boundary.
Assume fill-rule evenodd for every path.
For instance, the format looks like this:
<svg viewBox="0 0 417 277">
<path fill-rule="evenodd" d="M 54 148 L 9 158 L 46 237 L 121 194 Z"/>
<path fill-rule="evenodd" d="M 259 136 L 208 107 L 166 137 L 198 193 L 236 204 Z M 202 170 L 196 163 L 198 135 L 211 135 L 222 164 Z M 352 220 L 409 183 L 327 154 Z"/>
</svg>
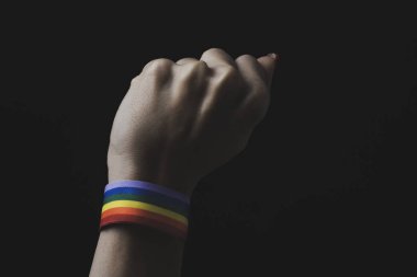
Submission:
<svg viewBox="0 0 417 277">
<path fill-rule="evenodd" d="M 149 210 L 138 209 L 138 208 L 112 208 L 112 209 L 108 209 L 101 215 L 101 218 L 104 219 L 109 216 L 119 216 L 119 215 L 149 218 L 149 219 L 153 219 L 154 221 L 162 222 L 164 224 L 167 224 L 171 228 L 180 229 L 182 231 L 185 231 L 188 229 L 188 227 L 184 223 L 177 221 L 172 218 L 169 218 L 169 217 L 166 217 L 164 215 L 159 215 L 159 213 L 156 213 L 156 212 L 153 212 Z"/>
</svg>

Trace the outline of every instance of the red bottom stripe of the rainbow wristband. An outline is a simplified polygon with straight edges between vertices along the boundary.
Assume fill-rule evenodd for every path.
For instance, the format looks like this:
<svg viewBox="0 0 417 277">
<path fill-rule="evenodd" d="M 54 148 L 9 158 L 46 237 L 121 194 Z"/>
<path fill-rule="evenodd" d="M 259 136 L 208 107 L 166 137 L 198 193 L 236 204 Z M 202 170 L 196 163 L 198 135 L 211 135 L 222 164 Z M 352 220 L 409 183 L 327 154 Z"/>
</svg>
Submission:
<svg viewBox="0 0 417 277">
<path fill-rule="evenodd" d="M 153 227 L 155 229 L 161 230 L 164 232 L 170 233 L 170 234 L 172 234 L 177 238 L 180 238 L 180 239 L 187 238 L 187 231 L 184 231 L 184 230 L 172 228 L 170 226 L 165 224 L 164 222 L 156 221 L 154 219 L 140 217 L 140 216 L 129 216 L 129 215 L 108 216 L 108 217 L 101 219 L 100 228 L 103 228 L 103 227 L 112 224 L 112 223 L 145 224 L 145 226 L 149 226 L 149 227 Z"/>
</svg>

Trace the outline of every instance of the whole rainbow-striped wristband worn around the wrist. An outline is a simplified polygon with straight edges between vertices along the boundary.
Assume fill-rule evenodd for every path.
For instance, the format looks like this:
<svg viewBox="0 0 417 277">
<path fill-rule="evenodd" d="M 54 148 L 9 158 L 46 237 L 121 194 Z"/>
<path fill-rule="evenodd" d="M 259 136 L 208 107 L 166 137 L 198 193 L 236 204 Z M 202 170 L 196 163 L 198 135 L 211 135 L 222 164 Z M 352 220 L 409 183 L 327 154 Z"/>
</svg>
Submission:
<svg viewBox="0 0 417 277">
<path fill-rule="evenodd" d="M 148 226 L 180 239 L 187 238 L 189 198 L 144 181 L 108 184 L 100 228 L 114 223 Z"/>
</svg>

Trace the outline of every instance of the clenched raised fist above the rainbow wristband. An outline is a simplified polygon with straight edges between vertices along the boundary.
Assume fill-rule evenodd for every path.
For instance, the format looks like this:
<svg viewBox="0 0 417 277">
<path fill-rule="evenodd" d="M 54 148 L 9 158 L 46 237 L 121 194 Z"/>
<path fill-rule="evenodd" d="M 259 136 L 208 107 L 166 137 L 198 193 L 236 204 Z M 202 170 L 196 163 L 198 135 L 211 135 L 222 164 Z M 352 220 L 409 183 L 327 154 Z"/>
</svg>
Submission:
<svg viewBox="0 0 417 277">
<path fill-rule="evenodd" d="M 129 178 L 191 195 L 201 177 L 246 147 L 269 105 L 277 57 L 221 49 L 156 59 L 134 78 L 114 118 L 109 182 Z"/>
</svg>

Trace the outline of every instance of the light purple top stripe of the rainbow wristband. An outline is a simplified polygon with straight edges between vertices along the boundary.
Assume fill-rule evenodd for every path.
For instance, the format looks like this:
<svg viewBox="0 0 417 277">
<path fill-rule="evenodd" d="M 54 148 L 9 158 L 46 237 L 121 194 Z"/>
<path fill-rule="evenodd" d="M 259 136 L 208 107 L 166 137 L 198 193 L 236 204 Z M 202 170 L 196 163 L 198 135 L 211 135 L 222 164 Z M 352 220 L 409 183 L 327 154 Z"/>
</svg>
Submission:
<svg viewBox="0 0 417 277">
<path fill-rule="evenodd" d="M 111 184 L 108 184 L 104 188 L 104 192 L 108 192 L 113 188 L 119 188 L 119 187 L 137 187 L 137 188 L 145 188 L 148 191 L 153 191 L 159 194 L 164 194 L 173 198 L 177 198 L 179 200 L 182 200 L 187 204 L 190 204 L 190 199 L 187 195 L 178 193 L 171 188 L 153 184 L 149 182 L 144 182 L 144 181 L 137 181 L 137 180 L 120 180 L 115 181 Z"/>
</svg>

